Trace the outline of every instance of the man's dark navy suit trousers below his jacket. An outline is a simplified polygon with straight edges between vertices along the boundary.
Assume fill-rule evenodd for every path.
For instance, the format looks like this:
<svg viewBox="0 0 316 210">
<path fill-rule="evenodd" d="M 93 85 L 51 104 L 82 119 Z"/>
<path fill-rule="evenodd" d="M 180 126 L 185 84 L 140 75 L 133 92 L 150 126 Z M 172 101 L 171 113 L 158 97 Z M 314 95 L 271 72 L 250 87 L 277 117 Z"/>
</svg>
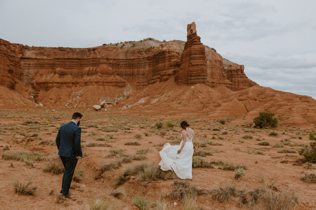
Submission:
<svg viewBox="0 0 316 210">
<path fill-rule="evenodd" d="M 65 167 L 63 181 L 61 184 L 61 189 L 63 191 L 63 195 L 65 196 L 65 195 L 68 195 L 69 193 L 72 176 L 74 175 L 78 159 L 75 156 L 70 156 L 70 157 L 59 156 L 59 157 Z"/>
</svg>

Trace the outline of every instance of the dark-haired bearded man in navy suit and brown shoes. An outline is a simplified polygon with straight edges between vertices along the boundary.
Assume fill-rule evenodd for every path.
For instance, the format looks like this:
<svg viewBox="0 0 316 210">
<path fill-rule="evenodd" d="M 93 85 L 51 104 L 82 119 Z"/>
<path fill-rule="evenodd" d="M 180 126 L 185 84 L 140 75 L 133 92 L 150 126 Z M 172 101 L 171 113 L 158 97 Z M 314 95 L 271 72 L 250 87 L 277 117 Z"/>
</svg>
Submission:
<svg viewBox="0 0 316 210">
<path fill-rule="evenodd" d="M 74 199 L 76 197 L 70 195 L 69 188 L 78 159 L 82 157 L 80 145 L 81 128 L 79 127 L 81 121 L 82 114 L 75 112 L 70 122 L 60 126 L 56 137 L 58 155 L 65 167 L 60 194 L 66 199 Z"/>
</svg>

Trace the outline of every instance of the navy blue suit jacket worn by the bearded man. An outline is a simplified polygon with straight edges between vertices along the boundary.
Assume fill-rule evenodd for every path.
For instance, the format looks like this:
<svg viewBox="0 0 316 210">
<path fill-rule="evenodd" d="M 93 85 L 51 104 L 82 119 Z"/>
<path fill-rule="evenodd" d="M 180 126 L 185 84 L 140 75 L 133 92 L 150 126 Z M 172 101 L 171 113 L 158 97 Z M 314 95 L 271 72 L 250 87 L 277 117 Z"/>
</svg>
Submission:
<svg viewBox="0 0 316 210">
<path fill-rule="evenodd" d="M 76 122 L 70 121 L 60 126 L 56 145 L 60 156 L 70 157 L 73 154 L 76 157 L 82 157 L 81 128 L 76 125 Z"/>
</svg>

